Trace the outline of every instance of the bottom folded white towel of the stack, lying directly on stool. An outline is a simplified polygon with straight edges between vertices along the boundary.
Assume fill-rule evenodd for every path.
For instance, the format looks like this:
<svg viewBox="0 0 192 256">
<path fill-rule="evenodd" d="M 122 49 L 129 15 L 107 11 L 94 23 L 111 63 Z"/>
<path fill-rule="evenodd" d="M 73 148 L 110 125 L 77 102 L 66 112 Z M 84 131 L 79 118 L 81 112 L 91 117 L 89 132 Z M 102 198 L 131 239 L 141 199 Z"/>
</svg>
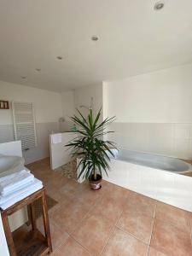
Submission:
<svg viewBox="0 0 192 256">
<path fill-rule="evenodd" d="M 43 188 L 43 183 L 37 178 L 34 178 L 34 181 L 29 186 L 26 186 L 25 188 L 20 189 L 19 191 L 17 191 L 17 193 L 14 193 L 8 196 L 1 196 L 0 207 L 3 210 L 5 210 L 8 207 L 11 207 L 12 205 L 14 205 L 16 202 L 26 198 L 26 196 L 32 195 L 32 193 L 42 188 Z"/>
</svg>

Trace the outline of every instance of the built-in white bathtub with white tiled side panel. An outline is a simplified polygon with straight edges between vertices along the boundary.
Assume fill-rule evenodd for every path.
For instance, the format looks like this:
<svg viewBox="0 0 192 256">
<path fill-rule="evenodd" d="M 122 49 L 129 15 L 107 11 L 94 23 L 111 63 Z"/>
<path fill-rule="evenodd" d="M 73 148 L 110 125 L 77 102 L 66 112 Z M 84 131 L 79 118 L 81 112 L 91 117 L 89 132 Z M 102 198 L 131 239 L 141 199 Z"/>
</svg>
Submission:
<svg viewBox="0 0 192 256">
<path fill-rule="evenodd" d="M 179 175 L 192 172 L 182 160 L 130 150 L 115 152 L 110 172 L 103 179 L 158 201 L 192 212 L 192 177 Z"/>
</svg>

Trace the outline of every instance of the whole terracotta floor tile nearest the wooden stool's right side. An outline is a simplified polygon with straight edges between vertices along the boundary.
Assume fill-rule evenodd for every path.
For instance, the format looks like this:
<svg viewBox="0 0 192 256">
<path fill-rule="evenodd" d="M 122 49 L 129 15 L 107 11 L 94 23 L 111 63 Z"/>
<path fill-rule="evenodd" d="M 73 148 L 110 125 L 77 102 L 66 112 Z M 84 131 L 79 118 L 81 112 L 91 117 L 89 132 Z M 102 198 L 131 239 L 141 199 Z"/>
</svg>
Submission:
<svg viewBox="0 0 192 256">
<path fill-rule="evenodd" d="M 51 218 L 62 229 L 67 230 L 68 233 L 72 233 L 88 212 L 89 208 L 87 205 L 84 206 L 81 201 L 72 199 L 67 203 L 61 204 L 61 207 L 51 214 Z"/>
</svg>

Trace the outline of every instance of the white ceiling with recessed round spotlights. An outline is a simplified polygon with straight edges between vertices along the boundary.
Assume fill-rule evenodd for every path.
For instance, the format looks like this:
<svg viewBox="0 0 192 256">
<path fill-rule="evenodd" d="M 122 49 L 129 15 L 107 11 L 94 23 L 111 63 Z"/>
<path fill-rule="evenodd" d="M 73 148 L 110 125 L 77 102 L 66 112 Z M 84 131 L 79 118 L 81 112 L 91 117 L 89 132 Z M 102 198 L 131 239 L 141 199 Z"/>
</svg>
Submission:
<svg viewBox="0 0 192 256">
<path fill-rule="evenodd" d="M 192 1 L 155 2 L 1 0 L 0 80 L 61 91 L 191 62 Z"/>
</svg>

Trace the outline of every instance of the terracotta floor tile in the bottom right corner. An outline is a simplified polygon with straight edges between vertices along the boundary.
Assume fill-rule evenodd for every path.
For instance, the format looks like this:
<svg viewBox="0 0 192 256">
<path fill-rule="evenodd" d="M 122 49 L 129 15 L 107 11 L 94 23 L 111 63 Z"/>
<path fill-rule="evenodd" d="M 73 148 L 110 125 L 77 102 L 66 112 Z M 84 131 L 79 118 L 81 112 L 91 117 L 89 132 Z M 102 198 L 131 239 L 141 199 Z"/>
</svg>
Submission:
<svg viewBox="0 0 192 256">
<path fill-rule="evenodd" d="M 192 255 L 191 237 L 189 232 L 156 219 L 154 221 L 151 246 L 169 256 Z"/>
</svg>

